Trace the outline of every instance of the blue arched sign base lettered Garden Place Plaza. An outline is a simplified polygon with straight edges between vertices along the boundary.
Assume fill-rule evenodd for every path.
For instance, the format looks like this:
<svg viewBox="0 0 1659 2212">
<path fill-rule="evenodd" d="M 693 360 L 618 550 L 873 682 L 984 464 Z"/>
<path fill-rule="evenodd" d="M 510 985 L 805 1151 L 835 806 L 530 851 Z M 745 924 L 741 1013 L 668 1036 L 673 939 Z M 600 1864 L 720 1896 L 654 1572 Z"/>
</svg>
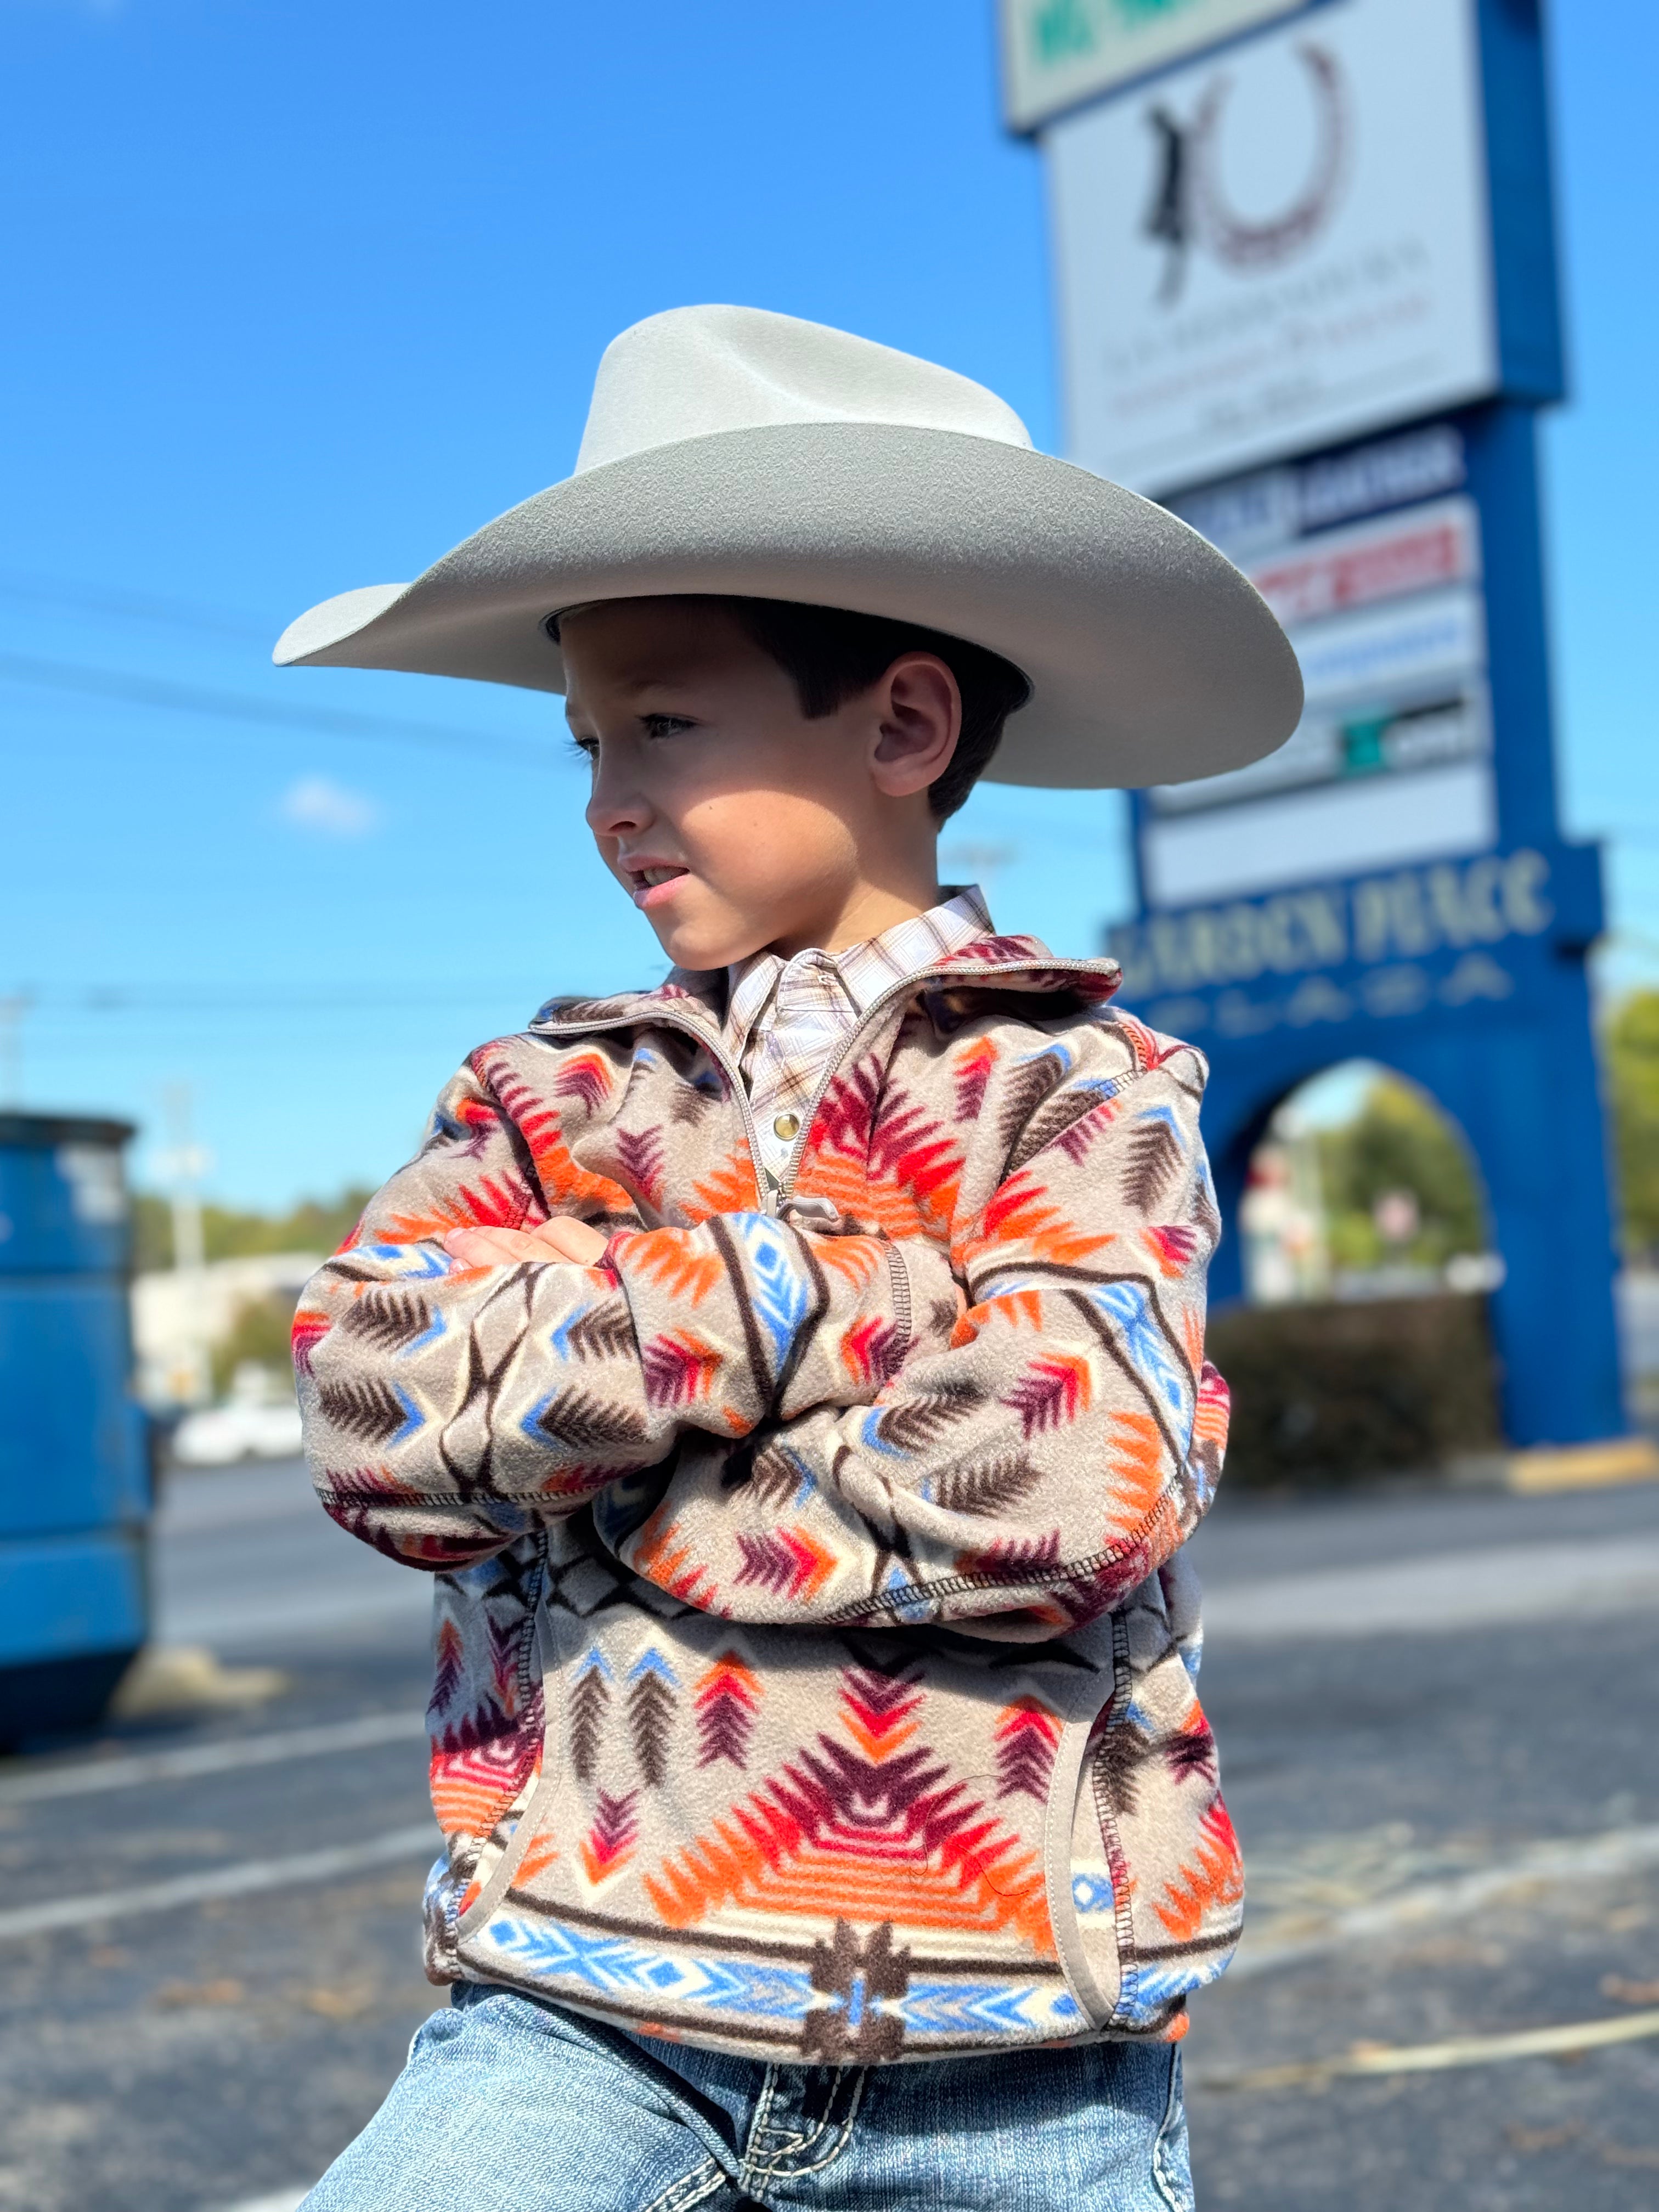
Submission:
<svg viewBox="0 0 1659 2212">
<path fill-rule="evenodd" d="M 1551 838 L 1113 933 L 1126 1000 L 1210 1055 L 1203 1121 L 1228 1223 L 1274 1108 L 1334 1062 L 1385 1062 L 1460 1124 L 1506 1265 L 1493 1334 L 1522 1444 L 1621 1425 L 1584 973 L 1599 929 L 1597 849 Z M 1243 1290 L 1239 1252 L 1228 1237 L 1214 1298 Z"/>
</svg>

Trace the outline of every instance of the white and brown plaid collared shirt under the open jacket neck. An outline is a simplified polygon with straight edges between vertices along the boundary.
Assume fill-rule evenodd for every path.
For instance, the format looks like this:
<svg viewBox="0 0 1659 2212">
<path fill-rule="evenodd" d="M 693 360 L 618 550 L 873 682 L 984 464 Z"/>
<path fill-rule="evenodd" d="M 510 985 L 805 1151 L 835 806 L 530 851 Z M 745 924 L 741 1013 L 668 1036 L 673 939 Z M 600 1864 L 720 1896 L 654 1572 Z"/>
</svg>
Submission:
<svg viewBox="0 0 1659 2212">
<path fill-rule="evenodd" d="M 752 953 L 728 973 L 726 1044 L 743 1071 L 761 1137 L 761 1170 L 776 1190 L 790 1166 L 812 1093 L 849 1031 L 891 984 L 945 953 L 991 936 L 991 914 L 975 883 L 894 922 L 878 938 L 825 953 L 816 947 L 779 960 Z"/>
</svg>

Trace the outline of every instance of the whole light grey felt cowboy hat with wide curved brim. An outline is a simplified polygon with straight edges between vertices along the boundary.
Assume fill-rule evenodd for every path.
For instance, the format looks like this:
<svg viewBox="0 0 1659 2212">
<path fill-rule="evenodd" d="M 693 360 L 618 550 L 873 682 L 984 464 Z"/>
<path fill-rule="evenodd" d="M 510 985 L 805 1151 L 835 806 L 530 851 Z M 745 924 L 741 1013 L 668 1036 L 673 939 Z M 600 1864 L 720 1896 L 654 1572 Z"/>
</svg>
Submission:
<svg viewBox="0 0 1659 2212">
<path fill-rule="evenodd" d="M 741 593 L 916 622 L 1031 679 L 991 776 L 1212 776 L 1296 728 L 1301 672 L 1186 522 L 1037 453 L 984 385 L 759 307 L 672 307 L 606 347 L 575 473 L 414 584 L 323 599 L 279 666 L 564 690 L 546 617 Z"/>
</svg>

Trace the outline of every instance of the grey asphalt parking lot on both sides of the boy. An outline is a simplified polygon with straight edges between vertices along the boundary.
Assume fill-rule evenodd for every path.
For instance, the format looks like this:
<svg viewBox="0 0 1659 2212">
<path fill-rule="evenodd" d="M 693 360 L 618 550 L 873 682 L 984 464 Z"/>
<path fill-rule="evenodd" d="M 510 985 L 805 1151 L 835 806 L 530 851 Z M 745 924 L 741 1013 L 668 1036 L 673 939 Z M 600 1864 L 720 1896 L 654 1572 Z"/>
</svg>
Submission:
<svg viewBox="0 0 1659 2212">
<path fill-rule="evenodd" d="M 1659 1486 L 1223 1495 L 1197 1542 L 1250 1867 L 1199 2203 L 1659 2203 Z M 157 1610 L 285 1686 L 0 1761 L 0 2212 L 288 2212 L 438 2002 L 422 1577 L 296 1467 L 190 1473 Z"/>
</svg>

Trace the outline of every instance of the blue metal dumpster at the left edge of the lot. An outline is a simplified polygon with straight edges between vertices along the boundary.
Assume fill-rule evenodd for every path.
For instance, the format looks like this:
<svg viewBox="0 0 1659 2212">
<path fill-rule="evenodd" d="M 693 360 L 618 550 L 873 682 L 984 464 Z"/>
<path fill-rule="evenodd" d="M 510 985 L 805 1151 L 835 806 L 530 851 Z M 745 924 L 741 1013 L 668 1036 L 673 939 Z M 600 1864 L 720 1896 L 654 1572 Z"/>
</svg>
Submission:
<svg viewBox="0 0 1659 2212">
<path fill-rule="evenodd" d="M 0 1745 L 95 1721 L 148 1628 L 131 1135 L 0 1113 Z"/>
</svg>

